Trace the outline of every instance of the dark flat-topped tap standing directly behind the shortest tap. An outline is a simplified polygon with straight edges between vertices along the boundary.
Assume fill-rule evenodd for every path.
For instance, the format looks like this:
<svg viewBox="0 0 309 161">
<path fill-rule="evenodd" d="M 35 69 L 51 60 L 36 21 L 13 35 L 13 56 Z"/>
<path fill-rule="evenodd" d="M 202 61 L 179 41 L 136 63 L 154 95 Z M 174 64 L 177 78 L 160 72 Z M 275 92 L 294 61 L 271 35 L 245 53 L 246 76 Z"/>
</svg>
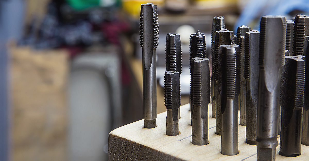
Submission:
<svg viewBox="0 0 309 161">
<path fill-rule="evenodd" d="M 181 74 L 181 42 L 179 34 L 166 35 L 166 70 L 178 71 Z M 180 109 L 178 110 L 180 119 Z"/>
</svg>

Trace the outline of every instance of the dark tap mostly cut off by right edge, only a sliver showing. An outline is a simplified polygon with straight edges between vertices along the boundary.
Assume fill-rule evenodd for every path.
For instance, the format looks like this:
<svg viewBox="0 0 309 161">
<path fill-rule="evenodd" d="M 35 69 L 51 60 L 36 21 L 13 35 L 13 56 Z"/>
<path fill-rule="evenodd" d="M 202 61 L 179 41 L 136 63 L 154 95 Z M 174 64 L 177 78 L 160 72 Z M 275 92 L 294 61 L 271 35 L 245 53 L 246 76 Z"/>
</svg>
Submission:
<svg viewBox="0 0 309 161">
<path fill-rule="evenodd" d="M 303 133 L 302 144 L 309 146 L 309 36 L 304 39 L 305 56 L 305 87 L 304 87 L 304 107 L 303 107 Z"/>
</svg>

